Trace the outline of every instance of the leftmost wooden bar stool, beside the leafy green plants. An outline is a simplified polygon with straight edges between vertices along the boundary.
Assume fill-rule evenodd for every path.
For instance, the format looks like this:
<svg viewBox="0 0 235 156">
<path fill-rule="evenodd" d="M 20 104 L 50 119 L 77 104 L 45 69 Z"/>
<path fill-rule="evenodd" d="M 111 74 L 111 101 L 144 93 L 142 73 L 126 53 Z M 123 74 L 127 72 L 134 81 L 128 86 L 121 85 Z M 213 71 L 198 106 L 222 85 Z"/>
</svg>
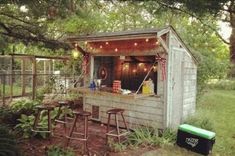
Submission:
<svg viewBox="0 0 235 156">
<path fill-rule="evenodd" d="M 33 132 L 45 132 L 45 133 L 49 133 L 51 134 L 51 114 L 50 112 L 54 109 L 54 106 L 50 106 L 50 105 L 40 105 L 36 107 L 38 109 L 38 112 L 36 114 L 36 117 L 34 119 L 34 124 L 33 124 Z M 38 122 L 40 120 L 40 116 L 41 116 L 41 112 L 42 111 L 47 111 L 47 130 L 40 130 L 40 129 L 44 129 L 46 127 L 39 127 L 38 126 Z"/>
</svg>

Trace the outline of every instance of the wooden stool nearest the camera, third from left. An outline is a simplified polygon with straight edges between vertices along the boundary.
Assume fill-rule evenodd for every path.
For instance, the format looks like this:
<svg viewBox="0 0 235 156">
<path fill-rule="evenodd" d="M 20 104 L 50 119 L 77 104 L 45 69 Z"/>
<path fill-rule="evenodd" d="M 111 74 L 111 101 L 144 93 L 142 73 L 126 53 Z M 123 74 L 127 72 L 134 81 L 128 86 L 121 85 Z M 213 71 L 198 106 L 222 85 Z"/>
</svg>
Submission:
<svg viewBox="0 0 235 156">
<path fill-rule="evenodd" d="M 69 131 L 69 135 L 66 136 L 66 142 L 65 145 L 68 146 L 70 139 L 74 139 L 74 140 L 79 140 L 79 141 L 83 141 L 84 142 L 84 153 L 86 153 L 86 151 L 88 151 L 87 148 L 87 139 L 88 139 L 88 117 L 91 116 L 90 112 L 86 112 L 86 111 L 74 111 L 73 112 L 75 115 L 75 118 L 73 120 L 73 124 L 72 127 Z M 74 132 L 74 129 L 76 127 L 76 123 L 78 120 L 78 117 L 82 117 L 84 118 L 84 129 L 82 133 L 78 133 L 78 132 Z M 72 137 L 73 134 L 77 134 L 80 135 L 82 137 Z"/>
</svg>

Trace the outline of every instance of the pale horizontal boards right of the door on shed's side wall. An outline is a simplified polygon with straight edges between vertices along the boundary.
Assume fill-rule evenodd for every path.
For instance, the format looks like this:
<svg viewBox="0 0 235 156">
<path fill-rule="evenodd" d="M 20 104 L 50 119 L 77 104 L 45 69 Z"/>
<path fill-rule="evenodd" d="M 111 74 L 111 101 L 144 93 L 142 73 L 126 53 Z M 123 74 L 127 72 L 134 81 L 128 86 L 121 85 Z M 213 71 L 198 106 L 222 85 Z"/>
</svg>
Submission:
<svg viewBox="0 0 235 156">
<path fill-rule="evenodd" d="M 197 66 L 187 52 L 184 53 L 183 79 L 183 120 L 185 120 L 195 112 L 197 92 Z"/>
</svg>

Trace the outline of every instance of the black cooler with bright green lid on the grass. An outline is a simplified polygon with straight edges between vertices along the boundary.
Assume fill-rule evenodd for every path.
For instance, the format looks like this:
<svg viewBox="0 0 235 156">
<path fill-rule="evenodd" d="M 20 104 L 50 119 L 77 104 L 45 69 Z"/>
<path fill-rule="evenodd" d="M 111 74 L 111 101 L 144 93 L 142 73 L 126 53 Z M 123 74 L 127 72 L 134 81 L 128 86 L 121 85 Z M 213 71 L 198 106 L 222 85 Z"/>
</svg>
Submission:
<svg viewBox="0 0 235 156">
<path fill-rule="evenodd" d="M 188 124 L 179 126 L 177 145 L 191 151 L 208 155 L 215 143 L 215 133 Z"/>
</svg>

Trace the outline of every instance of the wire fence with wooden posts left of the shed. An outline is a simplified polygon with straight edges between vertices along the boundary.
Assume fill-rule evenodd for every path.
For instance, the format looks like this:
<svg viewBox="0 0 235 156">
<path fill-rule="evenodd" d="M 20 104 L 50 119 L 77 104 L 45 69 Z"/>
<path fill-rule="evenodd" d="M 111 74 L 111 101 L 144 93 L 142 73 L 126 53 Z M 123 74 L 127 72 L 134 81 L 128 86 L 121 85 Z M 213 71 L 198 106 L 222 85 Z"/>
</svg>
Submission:
<svg viewBox="0 0 235 156">
<path fill-rule="evenodd" d="M 76 77 L 71 74 L 0 74 L 0 105 L 9 103 L 16 97 L 35 99 L 42 91 L 65 93 L 73 87 Z M 34 85 L 35 83 L 35 85 Z"/>
</svg>

